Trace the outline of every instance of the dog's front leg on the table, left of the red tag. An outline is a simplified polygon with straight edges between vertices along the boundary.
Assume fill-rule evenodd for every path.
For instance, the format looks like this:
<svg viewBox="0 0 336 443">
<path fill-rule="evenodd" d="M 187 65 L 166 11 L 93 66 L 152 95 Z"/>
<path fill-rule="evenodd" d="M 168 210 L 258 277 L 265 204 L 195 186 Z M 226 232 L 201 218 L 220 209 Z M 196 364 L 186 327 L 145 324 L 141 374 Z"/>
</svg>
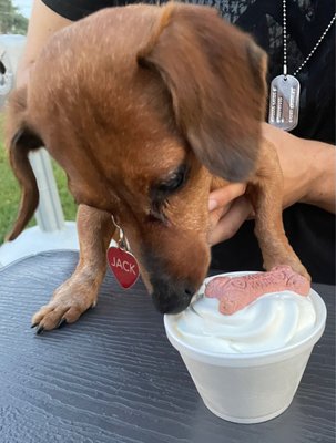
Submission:
<svg viewBox="0 0 336 443">
<path fill-rule="evenodd" d="M 54 329 L 63 321 L 73 323 L 96 303 L 114 226 L 111 215 L 84 205 L 79 206 L 77 226 L 79 264 L 73 275 L 54 291 L 49 303 L 33 316 L 32 324 L 38 327 L 38 332 Z"/>
</svg>

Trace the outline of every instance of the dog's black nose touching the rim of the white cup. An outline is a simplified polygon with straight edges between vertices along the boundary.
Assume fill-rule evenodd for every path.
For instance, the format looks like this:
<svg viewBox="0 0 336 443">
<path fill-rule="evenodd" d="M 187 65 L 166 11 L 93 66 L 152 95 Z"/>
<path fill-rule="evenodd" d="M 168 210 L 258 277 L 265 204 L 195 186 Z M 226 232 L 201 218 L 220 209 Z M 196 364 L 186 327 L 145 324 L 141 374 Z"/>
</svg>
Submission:
<svg viewBox="0 0 336 443">
<path fill-rule="evenodd" d="M 185 285 L 169 286 L 156 282 L 153 286 L 152 299 L 161 313 L 179 313 L 189 307 L 195 290 Z"/>
</svg>

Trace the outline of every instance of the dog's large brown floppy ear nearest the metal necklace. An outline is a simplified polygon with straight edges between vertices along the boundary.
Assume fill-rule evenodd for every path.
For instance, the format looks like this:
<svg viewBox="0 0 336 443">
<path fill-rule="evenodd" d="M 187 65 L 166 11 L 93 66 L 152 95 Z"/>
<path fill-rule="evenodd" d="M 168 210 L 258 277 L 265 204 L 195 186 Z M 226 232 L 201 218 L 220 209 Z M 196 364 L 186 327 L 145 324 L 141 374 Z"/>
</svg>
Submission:
<svg viewBox="0 0 336 443">
<path fill-rule="evenodd" d="M 246 179 L 264 119 L 265 53 L 214 9 L 171 3 L 138 61 L 160 73 L 177 125 L 210 172 Z"/>
</svg>

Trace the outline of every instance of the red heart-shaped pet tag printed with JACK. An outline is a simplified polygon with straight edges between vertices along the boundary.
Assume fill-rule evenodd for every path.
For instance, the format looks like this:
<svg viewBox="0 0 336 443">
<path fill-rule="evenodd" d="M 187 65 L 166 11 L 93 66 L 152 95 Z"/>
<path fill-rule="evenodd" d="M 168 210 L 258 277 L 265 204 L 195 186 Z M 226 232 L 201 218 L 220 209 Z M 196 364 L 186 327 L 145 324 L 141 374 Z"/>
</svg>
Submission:
<svg viewBox="0 0 336 443">
<path fill-rule="evenodd" d="M 122 288 L 128 289 L 135 284 L 139 277 L 139 265 L 131 253 L 111 246 L 108 249 L 108 261 Z"/>
</svg>

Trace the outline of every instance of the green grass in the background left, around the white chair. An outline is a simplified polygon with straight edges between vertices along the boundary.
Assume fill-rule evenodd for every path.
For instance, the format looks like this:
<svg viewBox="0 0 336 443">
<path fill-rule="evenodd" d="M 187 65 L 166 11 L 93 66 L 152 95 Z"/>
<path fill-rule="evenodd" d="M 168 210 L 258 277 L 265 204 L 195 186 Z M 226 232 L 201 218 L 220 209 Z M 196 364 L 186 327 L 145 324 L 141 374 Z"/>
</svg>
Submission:
<svg viewBox="0 0 336 443">
<path fill-rule="evenodd" d="M 10 230 L 16 219 L 20 203 L 19 185 L 11 172 L 3 146 L 3 123 L 4 116 L 0 114 L 0 245 L 3 243 L 4 235 Z M 74 220 L 77 205 L 68 190 L 65 174 L 54 162 L 52 162 L 52 168 L 64 212 L 64 218 L 65 220 Z M 34 219 L 32 219 L 28 226 L 33 225 L 35 225 Z"/>
</svg>

